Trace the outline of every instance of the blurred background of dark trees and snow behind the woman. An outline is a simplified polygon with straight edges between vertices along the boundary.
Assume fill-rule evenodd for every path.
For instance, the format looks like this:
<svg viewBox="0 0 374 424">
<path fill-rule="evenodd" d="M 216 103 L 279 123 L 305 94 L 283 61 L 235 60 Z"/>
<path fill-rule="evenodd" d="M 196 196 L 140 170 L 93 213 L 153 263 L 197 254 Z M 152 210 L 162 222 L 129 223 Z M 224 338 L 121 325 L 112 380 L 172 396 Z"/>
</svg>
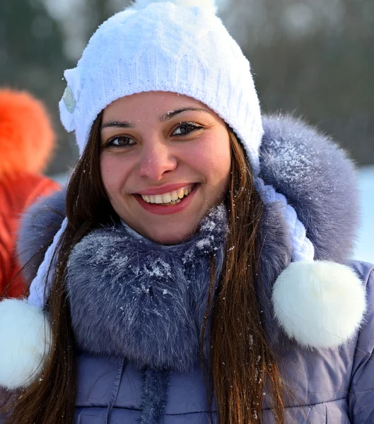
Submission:
<svg viewBox="0 0 374 424">
<path fill-rule="evenodd" d="M 63 71 L 75 66 L 95 28 L 130 2 L 0 1 L 0 83 L 47 104 L 59 136 L 47 174 L 57 179 L 66 179 L 77 156 L 58 118 Z M 374 0 L 216 3 L 250 59 L 264 112 L 303 117 L 358 165 L 363 209 L 355 257 L 374 262 Z"/>
</svg>

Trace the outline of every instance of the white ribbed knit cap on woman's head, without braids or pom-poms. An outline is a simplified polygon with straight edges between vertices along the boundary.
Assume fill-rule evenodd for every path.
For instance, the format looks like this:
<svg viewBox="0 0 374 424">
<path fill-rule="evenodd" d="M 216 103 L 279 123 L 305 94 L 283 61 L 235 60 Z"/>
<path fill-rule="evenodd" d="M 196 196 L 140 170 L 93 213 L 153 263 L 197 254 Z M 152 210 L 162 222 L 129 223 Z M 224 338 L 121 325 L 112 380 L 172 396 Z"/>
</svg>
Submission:
<svg viewBox="0 0 374 424">
<path fill-rule="evenodd" d="M 255 172 L 262 139 L 250 64 L 211 2 L 189 0 L 132 6 L 101 25 L 76 68 L 65 71 L 62 123 L 76 132 L 80 153 L 98 113 L 143 91 L 170 91 L 203 102 L 242 141 Z M 144 6 L 143 6 L 144 5 Z M 185 5 L 185 6 L 183 6 Z M 137 9 L 137 10 L 135 10 Z"/>
</svg>

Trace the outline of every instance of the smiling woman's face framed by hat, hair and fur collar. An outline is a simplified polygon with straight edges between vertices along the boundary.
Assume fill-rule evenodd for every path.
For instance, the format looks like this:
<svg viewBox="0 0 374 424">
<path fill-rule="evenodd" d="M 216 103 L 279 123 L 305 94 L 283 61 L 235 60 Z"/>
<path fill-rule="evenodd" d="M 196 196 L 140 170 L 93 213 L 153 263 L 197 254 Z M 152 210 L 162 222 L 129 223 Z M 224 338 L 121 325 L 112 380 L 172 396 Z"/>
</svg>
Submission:
<svg viewBox="0 0 374 424">
<path fill-rule="evenodd" d="M 153 91 L 103 111 L 100 170 L 110 203 L 149 239 L 182 242 L 228 191 L 226 124 L 206 105 Z"/>
</svg>

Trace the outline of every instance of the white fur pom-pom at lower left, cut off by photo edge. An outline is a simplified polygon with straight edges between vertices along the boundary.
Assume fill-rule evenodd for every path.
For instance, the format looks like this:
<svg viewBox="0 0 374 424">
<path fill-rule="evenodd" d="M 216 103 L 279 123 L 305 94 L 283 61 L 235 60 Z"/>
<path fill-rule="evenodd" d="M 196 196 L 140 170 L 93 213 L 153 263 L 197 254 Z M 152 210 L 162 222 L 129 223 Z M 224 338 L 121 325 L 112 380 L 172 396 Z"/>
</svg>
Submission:
<svg viewBox="0 0 374 424">
<path fill-rule="evenodd" d="M 27 387 L 40 375 L 50 346 L 49 323 L 26 300 L 0 302 L 0 386 Z"/>
</svg>

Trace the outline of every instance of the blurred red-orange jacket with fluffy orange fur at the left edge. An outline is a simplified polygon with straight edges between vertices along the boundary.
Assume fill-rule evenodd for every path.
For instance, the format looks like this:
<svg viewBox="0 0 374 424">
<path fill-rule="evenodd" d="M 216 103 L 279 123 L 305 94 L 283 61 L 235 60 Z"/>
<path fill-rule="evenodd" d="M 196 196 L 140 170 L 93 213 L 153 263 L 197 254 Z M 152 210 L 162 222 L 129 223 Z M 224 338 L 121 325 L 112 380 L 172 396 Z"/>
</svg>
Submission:
<svg viewBox="0 0 374 424">
<path fill-rule="evenodd" d="M 54 147 L 54 131 L 42 103 L 25 92 L 0 90 L 0 297 L 27 288 L 16 257 L 21 213 L 59 184 L 40 175 Z"/>
</svg>

